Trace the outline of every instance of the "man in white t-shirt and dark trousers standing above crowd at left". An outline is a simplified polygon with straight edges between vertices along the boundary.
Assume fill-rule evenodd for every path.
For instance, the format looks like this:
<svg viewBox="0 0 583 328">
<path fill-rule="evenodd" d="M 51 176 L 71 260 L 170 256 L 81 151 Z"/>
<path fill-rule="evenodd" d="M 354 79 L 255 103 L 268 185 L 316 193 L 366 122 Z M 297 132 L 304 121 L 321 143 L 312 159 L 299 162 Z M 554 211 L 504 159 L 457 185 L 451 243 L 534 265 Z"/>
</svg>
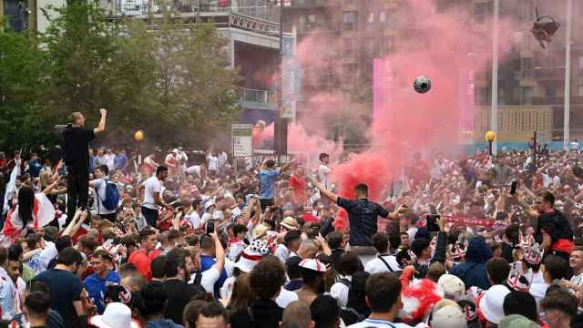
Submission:
<svg viewBox="0 0 583 328">
<path fill-rule="evenodd" d="M 165 166 L 160 165 L 158 169 L 156 169 L 156 175 L 149 177 L 140 185 L 140 188 L 144 189 L 142 215 L 146 218 L 148 225 L 152 227 L 156 227 L 160 207 L 172 210 L 172 207 L 169 204 L 166 204 L 161 196 L 162 182 L 164 182 L 166 178 L 168 178 L 168 169 Z"/>
</svg>

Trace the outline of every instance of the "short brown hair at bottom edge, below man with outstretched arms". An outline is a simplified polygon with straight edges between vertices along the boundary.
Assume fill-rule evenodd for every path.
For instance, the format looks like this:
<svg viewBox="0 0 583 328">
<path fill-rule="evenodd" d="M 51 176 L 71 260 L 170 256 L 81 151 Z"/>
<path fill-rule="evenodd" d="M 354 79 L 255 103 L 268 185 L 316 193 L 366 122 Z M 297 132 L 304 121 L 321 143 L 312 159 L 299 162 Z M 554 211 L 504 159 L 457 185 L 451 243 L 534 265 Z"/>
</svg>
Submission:
<svg viewBox="0 0 583 328">
<path fill-rule="evenodd" d="M 366 281 L 365 295 L 372 312 L 387 313 L 401 295 L 401 281 L 389 272 L 373 274 Z"/>
</svg>

